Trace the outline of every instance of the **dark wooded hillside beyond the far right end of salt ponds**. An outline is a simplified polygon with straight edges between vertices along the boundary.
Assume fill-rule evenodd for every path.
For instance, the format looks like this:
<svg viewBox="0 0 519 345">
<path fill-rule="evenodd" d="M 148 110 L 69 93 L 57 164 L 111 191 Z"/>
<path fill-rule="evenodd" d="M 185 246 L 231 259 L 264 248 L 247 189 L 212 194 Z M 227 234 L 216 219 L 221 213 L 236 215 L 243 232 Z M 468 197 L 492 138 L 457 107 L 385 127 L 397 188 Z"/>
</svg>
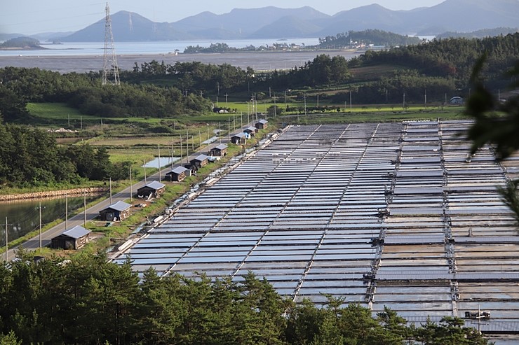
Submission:
<svg viewBox="0 0 519 345">
<path fill-rule="evenodd" d="M 485 52 L 488 58 L 482 77 L 485 87 L 497 93 L 506 88 L 510 81 L 506 71 L 519 59 L 519 33 L 483 39 L 435 39 L 419 45 L 369 50 L 349 60 L 349 68 L 390 64 L 395 71 L 377 80 L 351 85 L 348 92 L 337 94 L 334 101 L 348 101 L 349 92 L 358 104 L 403 104 L 403 94 L 406 104 L 445 102 L 446 95 L 464 97 L 471 87 L 472 68 Z"/>
</svg>

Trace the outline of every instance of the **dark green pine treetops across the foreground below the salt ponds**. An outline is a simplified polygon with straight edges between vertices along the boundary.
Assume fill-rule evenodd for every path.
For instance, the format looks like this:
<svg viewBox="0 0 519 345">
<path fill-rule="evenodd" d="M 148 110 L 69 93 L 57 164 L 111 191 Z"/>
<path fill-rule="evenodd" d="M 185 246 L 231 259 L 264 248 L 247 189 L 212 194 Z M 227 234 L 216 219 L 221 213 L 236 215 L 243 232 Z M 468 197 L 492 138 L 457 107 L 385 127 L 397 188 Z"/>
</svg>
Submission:
<svg viewBox="0 0 519 345">
<path fill-rule="evenodd" d="M 18 256 L 0 266 L 0 344 L 488 344 L 459 318 L 417 328 L 340 297 L 296 304 L 252 273 L 161 279 L 101 254 Z"/>
</svg>

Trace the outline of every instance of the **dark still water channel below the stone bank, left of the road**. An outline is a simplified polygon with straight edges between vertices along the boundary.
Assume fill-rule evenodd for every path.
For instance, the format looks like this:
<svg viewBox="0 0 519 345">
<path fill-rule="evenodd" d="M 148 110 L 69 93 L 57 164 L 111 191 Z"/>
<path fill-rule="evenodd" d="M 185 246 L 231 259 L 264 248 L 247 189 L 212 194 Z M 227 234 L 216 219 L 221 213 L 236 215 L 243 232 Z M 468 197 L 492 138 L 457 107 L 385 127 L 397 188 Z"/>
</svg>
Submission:
<svg viewBox="0 0 519 345">
<path fill-rule="evenodd" d="M 93 201 L 98 196 L 88 195 L 86 202 Z M 68 213 L 83 207 L 83 197 L 65 197 L 58 199 L 29 199 L 0 202 L 0 246 L 6 245 L 6 217 L 8 241 L 13 241 L 25 234 L 39 229 L 39 203 L 41 202 L 41 226 L 44 227 L 54 220 L 65 218 L 65 205 Z"/>
</svg>

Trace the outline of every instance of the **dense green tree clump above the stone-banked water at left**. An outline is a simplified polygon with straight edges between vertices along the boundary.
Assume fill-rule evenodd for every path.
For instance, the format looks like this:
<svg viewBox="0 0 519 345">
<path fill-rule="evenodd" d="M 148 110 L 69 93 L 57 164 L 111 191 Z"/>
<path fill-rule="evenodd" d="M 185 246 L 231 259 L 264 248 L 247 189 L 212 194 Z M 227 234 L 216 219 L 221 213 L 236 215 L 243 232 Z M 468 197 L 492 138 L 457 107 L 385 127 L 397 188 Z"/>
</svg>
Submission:
<svg viewBox="0 0 519 345">
<path fill-rule="evenodd" d="M 114 164 L 105 148 L 58 146 L 41 129 L 0 124 L 0 185 L 30 187 L 128 178 L 129 164 Z"/>
</svg>

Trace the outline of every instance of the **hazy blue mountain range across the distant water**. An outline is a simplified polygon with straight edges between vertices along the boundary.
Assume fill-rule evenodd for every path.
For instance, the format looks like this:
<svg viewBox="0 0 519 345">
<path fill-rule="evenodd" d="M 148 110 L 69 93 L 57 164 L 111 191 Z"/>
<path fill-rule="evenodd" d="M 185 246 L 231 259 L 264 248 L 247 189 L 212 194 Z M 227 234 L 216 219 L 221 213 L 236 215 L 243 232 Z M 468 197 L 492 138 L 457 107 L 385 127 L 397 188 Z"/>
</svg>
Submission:
<svg viewBox="0 0 519 345">
<path fill-rule="evenodd" d="M 152 22 L 137 13 L 120 11 L 112 15 L 112 31 L 115 41 L 325 37 L 365 29 L 436 35 L 445 31 L 518 27 L 518 13 L 519 0 L 446 0 L 414 10 L 389 10 L 372 4 L 335 15 L 308 6 L 292 9 L 270 6 L 234 9 L 222 15 L 202 12 L 173 23 Z M 59 39 L 104 41 L 105 20 Z"/>
</svg>

